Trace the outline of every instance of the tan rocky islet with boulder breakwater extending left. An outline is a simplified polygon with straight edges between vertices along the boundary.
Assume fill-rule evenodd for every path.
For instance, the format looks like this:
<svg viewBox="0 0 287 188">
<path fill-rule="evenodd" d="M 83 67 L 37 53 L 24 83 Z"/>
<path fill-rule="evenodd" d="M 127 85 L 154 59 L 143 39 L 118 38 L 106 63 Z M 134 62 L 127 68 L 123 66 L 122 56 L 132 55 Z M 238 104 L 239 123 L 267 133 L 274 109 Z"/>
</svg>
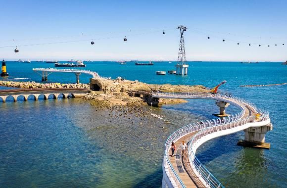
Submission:
<svg viewBox="0 0 287 188">
<path fill-rule="evenodd" d="M 91 101 L 92 105 L 99 105 L 105 108 L 113 105 L 126 105 L 126 106 L 142 106 L 147 105 L 146 101 L 141 97 L 130 96 L 130 91 L 157 91 L 157 92 L 200 92 L 208 93 L 208 90 L 204 86 L 188 86 L 188 85 L 157 85 L 157 84 L 146 84 L 139 81 L 123 80 L 121 78 L 115 80 L 107 79 L 93 79 L 93 82 L 104 88 L 104 91 L 94 92 L 90 91 L 83 95 L 82 98 L 85 101 Z M 91 84 L 61 84 L 61 83 L 36 83 L 36 82 L 12 82 L 12 81 L 0 81 L 0 86 L 4 87 L 15 87 L 24 89 L 35 89 L 35 88 L 81 88 L 90 89 Z M 162 104 L 177 104 L 186 102 L 184 99 L 159 99 Z"/>
</svg>

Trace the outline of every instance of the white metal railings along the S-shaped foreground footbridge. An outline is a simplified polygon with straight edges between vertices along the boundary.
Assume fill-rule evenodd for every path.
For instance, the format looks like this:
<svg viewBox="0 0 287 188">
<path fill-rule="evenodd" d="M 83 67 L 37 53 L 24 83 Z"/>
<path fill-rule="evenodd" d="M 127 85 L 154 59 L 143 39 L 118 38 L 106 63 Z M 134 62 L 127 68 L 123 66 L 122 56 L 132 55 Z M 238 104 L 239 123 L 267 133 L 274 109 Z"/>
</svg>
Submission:
<svg viewBox="0 0 287 188">
<path fill-rule="evenodd" d="M 192 151 L 192 141 L 194 138 L 200 139 L 203 136 L 206 136 L 213 131 L 222 131 L 225 129 L 231 129 L 237 126 L 241 126 L 244 124 L 247 124 L 249 122 L 258 122 L 258 121 L 265 121 L 269 119 L 269 113 L 266 110 L 261 110 L 256 107 L 256 105 L 252 102 L 249 102 L 245 99 L 239 98 L 239 97 L 228 97 L 221 94 L 202 94 L 202 93 L 152 93 L 153 97 L 168 97 L 168 98 L 210 98 L 210 99 L 222 99 L 227 100 L 228 102 L 237 104 L 242 110 L 235 115 L 224 117 L 224 118 L 218 118 L 218 119 L 212 119 L 212 120 L 206 120 L 201 122 L 196 122 L 190 125 L 187 125 L 183 128 L 180 128 L 179 130 L 175 131 L 173 134 L 169 136 L 165 143 L 165 156 L 163 160 L 163 168 L 165 170 L 165 173 L 169 177 L 170 182 L 172 183 L 173 187 L 184 187 L 185 185 L 180 179 L 180 177 L 177 175 L 175 169 L 173 168 L 173 165 L 171 164 L 169 160 L 169 150 L 171 147 L 171 142 L 176 142 L 180 138 L 184 137 L 185 135 L 188 135 L 194 131 L 202 130 L 206 132 L 198 132 L 189 143 L 189 153 L 190 155 L 190 162 L 191 165 L 196 170 L 197 174 L 200 175 L 200 178 L 204 181 L 207 187 L 212 188 L 223 188 L 223 185 L 200 163 L 200 161 L 196 158 L 195 153 Z M 250 111 L 249 115 L 254 113 L 261 114 L 260 117 L 247 117 L 244 119 L 241 119 L 245 114 L 245 107 L 248 107 L 247 109 Z M 240 120 L 241 119 L 241 120 Z M 209 132 L 208 132 L 209 130 Z M 201 137 L 202 136 L 202 137 Z M 199 138 L 200 137 L 200 138 Z M 195 141 L 195 140 L 194 140 Z M 193 141 L 193 143 L 194 143 Z"/>
</svg>

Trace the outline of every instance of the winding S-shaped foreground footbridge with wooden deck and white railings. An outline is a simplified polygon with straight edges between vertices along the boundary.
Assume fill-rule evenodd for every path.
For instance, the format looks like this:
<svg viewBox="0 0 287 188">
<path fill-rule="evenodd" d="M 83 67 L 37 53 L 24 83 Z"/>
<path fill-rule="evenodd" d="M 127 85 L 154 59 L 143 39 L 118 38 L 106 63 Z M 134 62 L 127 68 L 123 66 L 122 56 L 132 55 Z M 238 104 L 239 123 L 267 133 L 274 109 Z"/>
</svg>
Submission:
<svg viewBox="0 0 287 188">
<path fill-rule="evenodd" d="M 238 97 L 221 94 L 170 94 L 153 93 L 154 98 L 212 99 L 218 103 L 231 103 L 241 109 L 238 114 L 201 121 L 182 127 L 174 132 L 165 143 L 163 158 L 163 188 L 223 188 L 224 186 L 196 158 L 196 149 L 205 141 L 244 130 L 246 145 L 269 147 L 265 133 L 272 130 L 269 113 L 258 109 L 253 103 Z M 220 106 L 220 105 L 219 105 Z M 188 143 L 188 149 L 181 155 L 181 142 Z M 176 144 L 176 155 L 171 156 L 171 143 Z"/>
</svg>

